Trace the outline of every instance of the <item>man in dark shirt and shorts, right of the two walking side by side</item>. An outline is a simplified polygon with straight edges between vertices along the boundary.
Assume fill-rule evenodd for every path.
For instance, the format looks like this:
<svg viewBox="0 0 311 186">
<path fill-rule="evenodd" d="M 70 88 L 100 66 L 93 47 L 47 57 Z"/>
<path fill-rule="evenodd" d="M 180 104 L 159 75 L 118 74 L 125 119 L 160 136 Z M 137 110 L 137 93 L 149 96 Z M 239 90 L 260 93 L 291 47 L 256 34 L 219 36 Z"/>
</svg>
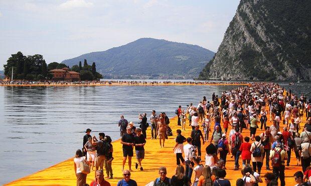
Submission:
<svg viewBox="0 0 311 186">
<path fill-rule="evenodd" d="M 141 161 L 144 158 L 144 144 L 146 143 L 145 137 L 141 135 L 141 129 L 137 128 L 136 136 L 134 137 L 135 141 L 135 151 L 136 151 L 136 159 L 138 163 L 135 163 L 135 168 L 137 169 L 138 164 L 140 166 L 140 170 L 143 170 L 141 166 Z"/>
</svg>

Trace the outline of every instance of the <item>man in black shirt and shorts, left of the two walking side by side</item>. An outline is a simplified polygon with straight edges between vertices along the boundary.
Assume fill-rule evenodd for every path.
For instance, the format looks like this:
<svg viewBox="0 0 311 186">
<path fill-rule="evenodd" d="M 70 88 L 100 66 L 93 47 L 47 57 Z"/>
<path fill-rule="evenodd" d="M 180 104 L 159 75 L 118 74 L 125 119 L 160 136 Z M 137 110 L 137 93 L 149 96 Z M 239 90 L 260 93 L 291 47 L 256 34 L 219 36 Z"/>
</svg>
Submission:
<svg viewBox="0 0 311 186">
<path fill-rule="evenodd" d="M 127 126 L 126 133 L 121 138 L 121 144 L 123 144 L 122 146 L 122 150 L 123 150 L 122 171 L 124 169 L 127 156 L 128 156 L 128 169 L 129 171 L 133 171 L 131 169 L 131 163 L 132 163 L 132 156 L 133 156 L 133 146 L 135 145 L 135 143 L 134 143 L 134 137 L 131 135 L 130 126 Z"/>
</svg>

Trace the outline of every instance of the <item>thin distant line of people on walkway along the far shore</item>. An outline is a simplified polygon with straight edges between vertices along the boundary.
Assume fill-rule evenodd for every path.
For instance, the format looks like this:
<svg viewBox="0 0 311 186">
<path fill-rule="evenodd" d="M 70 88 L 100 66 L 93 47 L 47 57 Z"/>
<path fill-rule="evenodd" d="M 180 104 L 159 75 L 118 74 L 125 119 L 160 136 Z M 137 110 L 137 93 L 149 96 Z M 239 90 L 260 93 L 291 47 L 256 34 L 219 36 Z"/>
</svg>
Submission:
<svg viewBox="0 0 311 186">
<path fill-rule="evenodd" d="M 246 84 L 242 81 L 147 81 L 147 80 L 84 80 L 84 81 L 65 81 L 65 80 L 1 80 L 0 85 L 159 85 L 159 84 Z"/>
</svg>

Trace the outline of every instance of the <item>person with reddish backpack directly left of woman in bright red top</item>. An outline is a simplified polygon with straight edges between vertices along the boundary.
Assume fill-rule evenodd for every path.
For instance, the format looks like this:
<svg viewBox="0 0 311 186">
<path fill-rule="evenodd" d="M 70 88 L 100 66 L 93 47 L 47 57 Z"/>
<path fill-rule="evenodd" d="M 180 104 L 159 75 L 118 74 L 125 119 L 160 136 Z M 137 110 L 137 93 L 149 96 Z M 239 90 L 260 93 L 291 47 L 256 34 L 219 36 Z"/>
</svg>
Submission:
<svg viewBox="0 0 311 186">
<path fill-rule="evenodd" d="M 239 127 L 235 127 L 235 133 L 231 136 L 231 151 L 234 155 L 234 170 L 239 169 L 240 146 L 243 142 L 243 135 L 239 133 Z"/>
</svg>

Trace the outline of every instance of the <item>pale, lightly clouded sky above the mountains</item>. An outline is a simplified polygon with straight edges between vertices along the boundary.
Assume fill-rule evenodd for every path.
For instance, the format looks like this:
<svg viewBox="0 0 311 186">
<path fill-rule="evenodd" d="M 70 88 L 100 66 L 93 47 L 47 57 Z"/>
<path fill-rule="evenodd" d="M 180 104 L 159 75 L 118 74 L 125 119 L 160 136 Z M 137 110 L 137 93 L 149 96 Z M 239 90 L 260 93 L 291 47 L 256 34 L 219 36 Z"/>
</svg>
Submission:
<svg viewBox="0 0 311 186">
<path fill-rule="evenodd" d="M 239 0 L 0 0 L 0 69 L 13 53 L 47 63 L 142 37 L 217 51 Z"/>
</svg>

